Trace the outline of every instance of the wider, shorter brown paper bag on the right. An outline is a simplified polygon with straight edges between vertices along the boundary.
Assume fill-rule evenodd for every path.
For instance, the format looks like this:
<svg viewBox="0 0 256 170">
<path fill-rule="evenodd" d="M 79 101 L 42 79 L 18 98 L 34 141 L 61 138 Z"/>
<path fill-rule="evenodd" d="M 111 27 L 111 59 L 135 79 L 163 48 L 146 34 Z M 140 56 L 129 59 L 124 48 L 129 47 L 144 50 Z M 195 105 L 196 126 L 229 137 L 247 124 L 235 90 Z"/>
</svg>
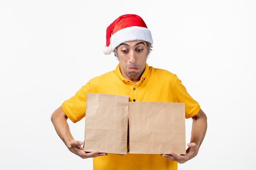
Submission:
<svg viewBox="0 0 256 170">
<path fill-rule="evenodd" d="M 130 102 L 129 153 L 186 154 L 185 104 Z"/>
</svg>

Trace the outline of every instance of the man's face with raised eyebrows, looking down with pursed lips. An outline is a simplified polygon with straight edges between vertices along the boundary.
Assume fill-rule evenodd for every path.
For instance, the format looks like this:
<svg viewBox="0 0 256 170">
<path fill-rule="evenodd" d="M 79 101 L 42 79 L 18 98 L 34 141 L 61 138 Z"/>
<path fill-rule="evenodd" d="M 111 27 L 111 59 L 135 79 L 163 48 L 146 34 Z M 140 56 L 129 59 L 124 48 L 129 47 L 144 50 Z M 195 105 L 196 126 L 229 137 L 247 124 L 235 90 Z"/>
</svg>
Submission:
<svg viewBox="0 0 256 170">
<path fill-rule="evenodd" d="M 117 47 L 117 54 L 122 75 L 128 80 L 139 80 L 146 67 L 146 42 L 141 40 L 124 42 Z"/>
</svg>

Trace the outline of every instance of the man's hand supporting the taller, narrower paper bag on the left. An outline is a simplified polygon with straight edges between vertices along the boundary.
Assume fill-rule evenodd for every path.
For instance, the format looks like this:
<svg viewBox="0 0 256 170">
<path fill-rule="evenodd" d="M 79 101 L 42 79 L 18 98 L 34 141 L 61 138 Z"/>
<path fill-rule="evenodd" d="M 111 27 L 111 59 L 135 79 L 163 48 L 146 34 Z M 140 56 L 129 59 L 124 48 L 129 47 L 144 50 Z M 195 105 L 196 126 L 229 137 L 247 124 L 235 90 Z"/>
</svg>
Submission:
<svg viewBox="0 0 256 170">
<path fill-rule="evenodd" d="M 83 150 L 81 145 L 83 142 L 81 141 L 71 141 L 70 145 L 67 147 L 71 152 L 78 155 L 79 157 L 86 159 L 86 158 L 93 158 L 93 157 L 99 157 L 99 156 L 107 156 L 106 153 L 99 153 L 99 152 L 90 152 L 87 153 Z"/>
</svg>

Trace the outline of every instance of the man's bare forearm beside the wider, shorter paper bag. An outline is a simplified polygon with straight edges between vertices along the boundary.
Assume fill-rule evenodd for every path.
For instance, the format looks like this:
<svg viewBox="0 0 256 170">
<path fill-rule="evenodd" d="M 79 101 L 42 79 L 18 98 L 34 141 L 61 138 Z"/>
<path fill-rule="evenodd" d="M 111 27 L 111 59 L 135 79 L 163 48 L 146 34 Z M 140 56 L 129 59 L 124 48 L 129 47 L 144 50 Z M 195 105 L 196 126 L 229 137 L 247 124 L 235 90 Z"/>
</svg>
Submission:
<svg viewBox="0 0 256 170">
<path fill-rule="evenodd" d="M 204 136 L 207 130 L 207 116 L 200 109 L 197 115 L 192 117 L 193 125 L 191 130 L 191 140 L 190 143 L 195 143 L 199 147 L 204 140 Z"/>
</svg>

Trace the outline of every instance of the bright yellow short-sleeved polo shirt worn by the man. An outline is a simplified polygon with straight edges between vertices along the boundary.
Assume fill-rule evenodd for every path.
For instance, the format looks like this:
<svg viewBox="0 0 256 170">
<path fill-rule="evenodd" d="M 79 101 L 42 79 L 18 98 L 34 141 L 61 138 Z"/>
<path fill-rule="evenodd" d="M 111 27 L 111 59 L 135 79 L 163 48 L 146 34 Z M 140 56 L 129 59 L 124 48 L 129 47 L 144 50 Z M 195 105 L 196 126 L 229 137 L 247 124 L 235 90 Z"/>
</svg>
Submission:
<svg viewBox="0 0 256 170">
<path fill-rule="evenodd" d="M 146 64 L 136 84 L 126 80 L 119 65 L 114 71 L 91 79 L 73 97 L 62 104 L 67 117 L 74 123 L 85 117 L 87 93 L 127 95 L 130 102 L 185 103 L 185 117 L 195 116 L 200 106 L 186 91 L 180 79 L 169 71 Z M 93 158 L 94 170 L 177 170 L 177 162 L 154 154 L 129 154 Z"/>
</svg>

